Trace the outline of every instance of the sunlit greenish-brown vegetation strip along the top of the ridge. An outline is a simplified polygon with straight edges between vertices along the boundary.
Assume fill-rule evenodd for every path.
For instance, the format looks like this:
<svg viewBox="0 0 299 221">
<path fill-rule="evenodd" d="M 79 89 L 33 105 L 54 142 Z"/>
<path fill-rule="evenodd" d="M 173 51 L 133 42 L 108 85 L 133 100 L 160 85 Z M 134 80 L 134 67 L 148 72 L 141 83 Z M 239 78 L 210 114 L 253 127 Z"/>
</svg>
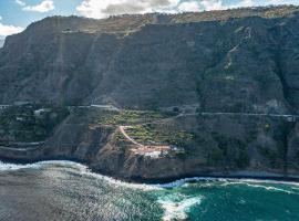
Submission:
<svg viewBox="0 0 299 221">
<path fill-rule="evenodd" d="M 299 11 L 298 7 L 282 6 L 282 7 L 260 7 L 260 8 L 240 8 L 234 10 L 219 10 L 219 11 L 204 11 L 204 12 L 186 12 L 179 14 L 161 14 L 161 13 L 147 13 L 147 14 L 123 14 L 113 15 L 102 20 L 90 20 L 89 23 L 83 21 L 79 25 L 74 27 L 70 24 L 62 29 L 62 33 L 110 33 L 117 34 L 123 38 L 136 32 L 143 27 L 156 23 L 189 23 L 200 21 L 226 21 L 231 18 L 247 18 L 247 17 L 261 17 L 261 18 L 281 18 L 292 14 Z M 62 17 L 49 18 L 60 22 Z M 70 18 L 75 19 L 75 18 Z M 62 23 L 62 22 L 61 22 Z M 241 31 L 243 27 L 236 30 Z"/>
</svg>

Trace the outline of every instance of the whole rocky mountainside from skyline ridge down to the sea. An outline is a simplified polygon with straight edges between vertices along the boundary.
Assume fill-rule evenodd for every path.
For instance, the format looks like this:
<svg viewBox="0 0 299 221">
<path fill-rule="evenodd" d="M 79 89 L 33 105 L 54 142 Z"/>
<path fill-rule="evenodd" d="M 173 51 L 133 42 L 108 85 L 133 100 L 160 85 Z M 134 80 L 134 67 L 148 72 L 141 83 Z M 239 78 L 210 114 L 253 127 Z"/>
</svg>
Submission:
<svg viewBox="0 0 299 221">
<path fill-rule="evenodd" d="M 12 124 L 0 123 L 14 144 L 2 145 L 0 158 L 73 159 L 143 180 L 296 177 L 298 28 L 298 7 L 35 22 L 0 49 L 0 103 L 70 115 L 41 133 L 48 118 L 18 107 Z M 18 122 L 24 113 L 30 122 Z M 13 125 L 35 129 L 20 131 L 28 146 L 18 147 Z M 34 134 L 44 139 L 32 147 Z"/>
</svg>

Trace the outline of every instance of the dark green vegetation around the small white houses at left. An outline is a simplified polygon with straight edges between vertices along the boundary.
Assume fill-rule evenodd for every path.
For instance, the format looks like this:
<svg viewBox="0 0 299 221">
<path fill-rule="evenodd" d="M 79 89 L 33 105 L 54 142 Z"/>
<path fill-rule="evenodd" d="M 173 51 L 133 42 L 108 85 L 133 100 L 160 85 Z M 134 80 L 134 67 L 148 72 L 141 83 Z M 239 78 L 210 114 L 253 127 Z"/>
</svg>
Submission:
<svg viewBox="0 0 299 221">
<path fill-rule="evenodd" d="M 11 106 L 0 114 L 0 145 L 42 141 L 68 115 L 63 107 Z"/>
</svg>

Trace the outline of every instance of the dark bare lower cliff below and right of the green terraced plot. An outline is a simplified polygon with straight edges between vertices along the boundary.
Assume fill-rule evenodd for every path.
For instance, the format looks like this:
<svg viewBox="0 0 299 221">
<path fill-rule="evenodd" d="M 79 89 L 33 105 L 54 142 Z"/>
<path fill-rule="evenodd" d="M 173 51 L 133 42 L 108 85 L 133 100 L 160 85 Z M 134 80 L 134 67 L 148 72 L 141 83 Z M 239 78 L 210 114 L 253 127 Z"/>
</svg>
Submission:
<svg viewBox="0 0 299 221">
<path fill-rule="evenodd" d="M 298 124 L 293 130 L 293 123 L 271 117 L 187 116 L 157 126 L 168 128 L 169 134 L 192 131 L 193 144 L 183 145 L 183 155 L 151 158 L 110 141 L 96 154 L 91 167 L 116 177 L 142 180 L 298 175 Z"/>
</svg>

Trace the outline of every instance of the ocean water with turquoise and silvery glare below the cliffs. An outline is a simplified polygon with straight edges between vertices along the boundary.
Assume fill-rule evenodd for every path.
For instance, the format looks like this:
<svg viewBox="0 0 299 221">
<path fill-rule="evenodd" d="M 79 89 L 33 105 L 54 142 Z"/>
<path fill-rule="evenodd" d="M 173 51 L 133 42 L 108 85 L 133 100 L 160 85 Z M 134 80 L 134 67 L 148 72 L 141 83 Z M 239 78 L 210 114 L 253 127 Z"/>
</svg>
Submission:
<svg viewBox="0 0 299 221">
<path fill-rule="evenodd" d="M 71 161 L 0 162 L 1 221 L 299 220 L 299 183 L 194 178 L 136 185 Z"/>
</svg>

